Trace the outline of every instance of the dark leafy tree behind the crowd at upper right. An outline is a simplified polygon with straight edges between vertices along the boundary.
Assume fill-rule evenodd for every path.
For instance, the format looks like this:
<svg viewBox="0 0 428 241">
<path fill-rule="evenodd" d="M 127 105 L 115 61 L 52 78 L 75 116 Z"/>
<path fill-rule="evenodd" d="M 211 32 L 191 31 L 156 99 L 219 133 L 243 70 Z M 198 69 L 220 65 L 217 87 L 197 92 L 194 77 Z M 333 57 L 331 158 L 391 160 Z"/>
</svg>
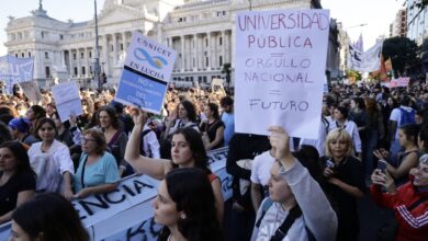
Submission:
<svg viewBox="0 0 428 241">
<path fill-rule="evenodd" d="M 391 37 L 383 42 L 383 58 L 391 58 L 395 76 L 409 74 L 409 70 L 420 67 L 418 53 L 419 47 L 407 37 Z"/>
</svg>

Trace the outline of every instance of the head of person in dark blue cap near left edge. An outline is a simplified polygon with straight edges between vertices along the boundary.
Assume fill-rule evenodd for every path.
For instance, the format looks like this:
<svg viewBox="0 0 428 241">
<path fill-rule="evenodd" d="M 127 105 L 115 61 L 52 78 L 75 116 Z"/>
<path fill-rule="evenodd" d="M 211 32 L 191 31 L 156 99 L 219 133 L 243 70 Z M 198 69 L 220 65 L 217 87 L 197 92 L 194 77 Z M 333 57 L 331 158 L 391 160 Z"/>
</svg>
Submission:
<svg viewBox="0 0 428 241">
<path fill-rule="evenodd" d="M 9 128 L 11 130 L 12 138 L 18 141 L 21 141 L 22 144 L 31 146 L 35 142 L 41 141 L 29 133 L 30 122 L 27 118 L 16 117 L 11 119 L 9 122 Z"/>
</svg>

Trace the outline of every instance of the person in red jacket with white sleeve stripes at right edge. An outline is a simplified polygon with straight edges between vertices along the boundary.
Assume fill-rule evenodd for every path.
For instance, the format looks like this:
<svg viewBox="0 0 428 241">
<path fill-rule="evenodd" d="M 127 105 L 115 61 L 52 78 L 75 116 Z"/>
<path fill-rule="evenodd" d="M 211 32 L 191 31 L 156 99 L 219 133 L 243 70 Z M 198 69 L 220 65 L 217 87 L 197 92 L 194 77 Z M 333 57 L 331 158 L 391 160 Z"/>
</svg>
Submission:
<svg viewBox="0 0 428 241">
<path fill-rule="evenodd" d="M 371 176 L 374 202 L 394 209 L 398 225 L 393 233 L 396 241 L 421 241 L 428 237 L 428 127 L 420 130 L 418 146 L 425 154 L 419 158 L 418 167 L 410 170 L 409 181 L 404 185 L 396 187 L 391 174 L 380 169 Z"/>
</svg>

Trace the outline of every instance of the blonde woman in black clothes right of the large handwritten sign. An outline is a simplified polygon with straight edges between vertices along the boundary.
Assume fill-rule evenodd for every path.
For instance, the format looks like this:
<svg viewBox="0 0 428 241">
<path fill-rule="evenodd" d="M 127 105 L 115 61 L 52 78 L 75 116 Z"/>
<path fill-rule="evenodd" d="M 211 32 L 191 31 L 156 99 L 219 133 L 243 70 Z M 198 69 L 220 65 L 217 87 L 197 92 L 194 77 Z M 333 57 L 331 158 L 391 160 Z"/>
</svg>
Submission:
<svg viewBox="0 0 428 241">
<path fill-rule="evenodd" d="M 342 128 L 331 130 L 326 139 L 324 175 L 327 194 L 334 202 L 338 218 L 337 241 L 358 240 L 360 232 L 357 198 L 364 195 L 364 174 L 361 161 L 353 156 L 352 139 Z"/>
</svg>

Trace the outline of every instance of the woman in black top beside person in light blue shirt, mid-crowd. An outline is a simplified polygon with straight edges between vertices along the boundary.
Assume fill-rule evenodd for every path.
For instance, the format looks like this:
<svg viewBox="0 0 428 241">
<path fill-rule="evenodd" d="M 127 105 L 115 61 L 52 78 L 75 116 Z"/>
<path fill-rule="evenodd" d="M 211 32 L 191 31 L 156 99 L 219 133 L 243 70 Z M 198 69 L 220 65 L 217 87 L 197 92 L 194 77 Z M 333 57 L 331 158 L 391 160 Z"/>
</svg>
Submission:
<svg viewBox="0 0 428 241">
<path fill-rule="evenodd" d="M 201 123 L 201 131 L 205 150 L 217 149 L 224 146 L 224 123 L 219 118 L 218 105 L 209 103 L 204 107 L 206 119 Z"/>
</svg>

